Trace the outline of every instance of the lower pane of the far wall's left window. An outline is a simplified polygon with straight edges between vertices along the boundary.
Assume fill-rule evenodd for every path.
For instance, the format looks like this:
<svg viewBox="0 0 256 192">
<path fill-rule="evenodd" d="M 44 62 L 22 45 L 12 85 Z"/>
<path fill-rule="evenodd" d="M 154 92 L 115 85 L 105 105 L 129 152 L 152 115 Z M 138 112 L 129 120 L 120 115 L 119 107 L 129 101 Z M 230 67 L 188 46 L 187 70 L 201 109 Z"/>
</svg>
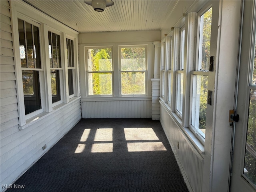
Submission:
<svg viewBox="0 0 256 192">
<path fill-rule="evenodd" d="M 89 95 L 112 95 L 112 73 L 89 73 Z"/>
</svg>

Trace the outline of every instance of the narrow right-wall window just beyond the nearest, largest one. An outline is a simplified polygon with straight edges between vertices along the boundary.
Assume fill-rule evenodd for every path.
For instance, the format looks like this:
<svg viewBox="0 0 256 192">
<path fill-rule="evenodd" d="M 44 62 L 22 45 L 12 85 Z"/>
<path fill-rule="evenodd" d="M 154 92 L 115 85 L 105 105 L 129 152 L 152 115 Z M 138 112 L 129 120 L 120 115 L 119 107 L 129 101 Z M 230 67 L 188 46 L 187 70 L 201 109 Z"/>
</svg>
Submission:
<svg viewBox="0 0 256 192">
<path fill-rule="evenodd" d="M 182 116 L 183 107 L 183 79 L 184 79 L 184 51 L 185 51 L 185 29 L 180 32 L 180 62 L 176 70 L 176 112 Z"/>
</svg>

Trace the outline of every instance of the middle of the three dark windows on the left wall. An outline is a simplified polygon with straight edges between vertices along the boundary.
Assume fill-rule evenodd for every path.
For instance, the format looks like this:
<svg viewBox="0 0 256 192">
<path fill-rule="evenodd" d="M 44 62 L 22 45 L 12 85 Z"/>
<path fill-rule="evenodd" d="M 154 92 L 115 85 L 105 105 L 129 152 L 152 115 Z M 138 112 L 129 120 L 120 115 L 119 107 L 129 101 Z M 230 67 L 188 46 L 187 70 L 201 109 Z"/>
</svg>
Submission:
<svg viewBox="0 0 256 192">
<path fill-rule="evenodd" d="M 60 58 L 60 35 L 48 31 L 50 70 L 51 70 L 51 86 L 52 86 L 52 103 L 61 100 L 60 79 L 62 73 Z"/>
</svg>

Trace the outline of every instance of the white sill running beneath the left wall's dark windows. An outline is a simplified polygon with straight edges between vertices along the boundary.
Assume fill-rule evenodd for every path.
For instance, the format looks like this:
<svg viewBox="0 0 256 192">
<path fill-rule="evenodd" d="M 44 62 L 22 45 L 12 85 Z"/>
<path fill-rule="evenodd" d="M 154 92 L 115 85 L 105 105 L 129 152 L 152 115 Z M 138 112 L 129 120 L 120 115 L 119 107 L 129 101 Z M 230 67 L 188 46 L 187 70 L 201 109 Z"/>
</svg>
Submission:
<svg viewBox="0 0 256 192">
<path fill-rule="evenodd" d="M 46 117 L 52 115 L 53 112 L 56 112 L 56 111 L 58 111 L 58 110 L 61 110 L 61 109 L 64 108 L 67 104 L 70 104 L 70 103 L 72 103 L 72 102 L 75 102 L 76 100 L 80 100 L 80 97 L 73 97 L 73 98 L 71 98 L 71 99 L 69 100 L 68 103 L 61 103 L 61 104 L 59 104 L 59 105 L 53 107 L 53 111 L 52 111 L 52 112 L 42 112 L 42 113 L 40 113 L 40 114 L 38 114 L 38 115 L 36 115 L 36 116 L 34 116 L 34 117 L 32 117 L 32 118 L 27 119 L 25 125 L 19 126 L 19 130 L 23 130 L 23 129 L 25 129 L 25 128 L 27 128 L 27 127 L 29 127 L 29 126 L 31 126 L 31 125 L 37 123 L 39 120 L 43 120 L 44 118 L 46 118 Z"/>
</svg>

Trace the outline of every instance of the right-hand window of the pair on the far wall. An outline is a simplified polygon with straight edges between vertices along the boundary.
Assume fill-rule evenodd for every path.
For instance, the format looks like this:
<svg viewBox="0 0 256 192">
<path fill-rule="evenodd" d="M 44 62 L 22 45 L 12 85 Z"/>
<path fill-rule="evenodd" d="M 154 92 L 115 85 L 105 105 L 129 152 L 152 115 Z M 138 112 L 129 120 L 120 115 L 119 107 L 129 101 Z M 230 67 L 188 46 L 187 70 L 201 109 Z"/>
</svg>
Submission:
<svg viewBox="0 0 256 192">
<path fill-rule="evenodd" d="M 146 47 L 120 48 L 121 94 L 146 94 Z"/>
</svg>

